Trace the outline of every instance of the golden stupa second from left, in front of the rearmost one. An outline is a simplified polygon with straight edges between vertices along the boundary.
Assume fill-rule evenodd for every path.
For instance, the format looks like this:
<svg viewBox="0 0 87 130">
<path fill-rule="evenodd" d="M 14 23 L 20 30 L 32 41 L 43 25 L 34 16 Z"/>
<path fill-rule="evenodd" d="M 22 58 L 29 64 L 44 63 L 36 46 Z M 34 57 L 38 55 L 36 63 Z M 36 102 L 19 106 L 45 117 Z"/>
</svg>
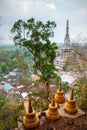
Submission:
<svg viewBox="0 0 87 130">
<path fill-rule="evenodd" d="M 55 121 L 60 117 L 59 111 L 58 111 L 58 106 L 55 103 L 54 95 L 52 97 L 52 101 L 49 104 L 48 110 L 46 111 L 46 118 Z"/>
</svg>

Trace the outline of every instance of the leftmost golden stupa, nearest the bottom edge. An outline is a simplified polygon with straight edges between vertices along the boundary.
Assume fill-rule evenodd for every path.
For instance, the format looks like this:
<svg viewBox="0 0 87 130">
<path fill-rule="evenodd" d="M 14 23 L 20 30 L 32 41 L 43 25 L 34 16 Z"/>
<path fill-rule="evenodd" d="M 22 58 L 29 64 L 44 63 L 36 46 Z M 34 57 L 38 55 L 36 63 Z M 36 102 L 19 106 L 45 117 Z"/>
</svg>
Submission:
<svg viewBox="0 0 87 130">
<path fill-rule="evenodd" d="M 39 118 L 36 112 L 32 109 L 31 100 L 29 99 L 29 108 L 26 115 L 23 117 L 23 125 L 25 128 L 35 128 L 39 124 Z"/>
</svg>

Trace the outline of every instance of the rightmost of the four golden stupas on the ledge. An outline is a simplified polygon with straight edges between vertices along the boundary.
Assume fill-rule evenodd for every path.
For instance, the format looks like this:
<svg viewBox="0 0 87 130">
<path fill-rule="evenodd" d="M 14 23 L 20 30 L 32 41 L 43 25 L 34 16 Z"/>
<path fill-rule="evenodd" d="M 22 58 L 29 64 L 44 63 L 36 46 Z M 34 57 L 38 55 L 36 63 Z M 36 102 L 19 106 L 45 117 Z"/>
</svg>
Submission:
<svg viewBox="0 0 87 130">
<path fill-rule="evenodd" d="M 78 111 L 76 101 L 73 97 L 73 89 L 70 90 L 70 98 L 66 101 L 64 110 L 69 114 L 75 114 Z"/>
</svg>

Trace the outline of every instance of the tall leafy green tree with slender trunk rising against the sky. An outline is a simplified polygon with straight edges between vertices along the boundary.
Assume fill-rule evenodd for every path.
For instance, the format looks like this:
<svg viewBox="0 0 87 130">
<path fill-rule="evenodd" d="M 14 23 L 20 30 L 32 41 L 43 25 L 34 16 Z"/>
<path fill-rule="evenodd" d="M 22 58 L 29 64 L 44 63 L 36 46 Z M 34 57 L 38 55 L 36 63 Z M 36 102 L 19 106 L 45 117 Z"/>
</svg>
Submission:
<svg viewBox="0 0 87 130">
<path fill-rule="evenodd" d="M 15 44 L 26 47 L 33 54 L 35 73 L 46 83 L 47 97 L 51 79 L 57 77 L 54 59 L 58 47 L 50 40 L 55 27 L 54 21 L 44 24 L 31 18 L 26 22 L 18 20 L 11 29 Z"/>
</svg>

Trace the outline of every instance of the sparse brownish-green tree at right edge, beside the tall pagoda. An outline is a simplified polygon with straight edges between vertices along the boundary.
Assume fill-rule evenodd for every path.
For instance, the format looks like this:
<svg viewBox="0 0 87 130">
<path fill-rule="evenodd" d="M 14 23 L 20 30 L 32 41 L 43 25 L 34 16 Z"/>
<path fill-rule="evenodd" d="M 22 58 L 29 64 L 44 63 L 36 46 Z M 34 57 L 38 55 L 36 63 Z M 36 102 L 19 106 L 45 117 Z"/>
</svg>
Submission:
<svg viewBox="0 0 87 130">
<path fill-rule="evenodd" d="M 86 75 L 87 70 L 87 45 L 73 44 L 73 55 L 68 57 L 65 64 L 64 70 L 67 71 L 78 71 L 81 75 Z"/>
</svg>

